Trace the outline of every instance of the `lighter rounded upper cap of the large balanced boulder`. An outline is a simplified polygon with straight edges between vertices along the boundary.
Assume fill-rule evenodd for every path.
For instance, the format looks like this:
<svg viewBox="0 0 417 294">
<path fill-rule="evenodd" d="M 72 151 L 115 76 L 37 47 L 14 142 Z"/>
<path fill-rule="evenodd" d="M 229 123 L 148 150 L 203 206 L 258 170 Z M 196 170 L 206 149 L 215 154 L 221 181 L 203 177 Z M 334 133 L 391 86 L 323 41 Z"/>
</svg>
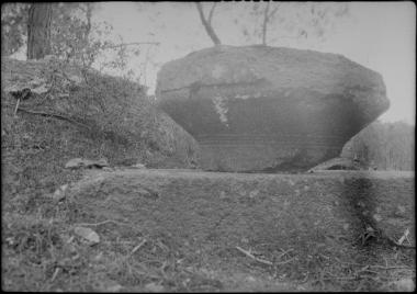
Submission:
<svg viewBox="0 0 417 294">
<path fill-rule="evenodd" d="M 215 86 L 259 80 L 277 89 L 308 88 L 334 93 L 363 88 L 385 95 L 380 74 L 341 55 L 263 45 L 219 45 L 169 61 L 158 74 L 157 95 L 199 82 Z"/>
</svg>

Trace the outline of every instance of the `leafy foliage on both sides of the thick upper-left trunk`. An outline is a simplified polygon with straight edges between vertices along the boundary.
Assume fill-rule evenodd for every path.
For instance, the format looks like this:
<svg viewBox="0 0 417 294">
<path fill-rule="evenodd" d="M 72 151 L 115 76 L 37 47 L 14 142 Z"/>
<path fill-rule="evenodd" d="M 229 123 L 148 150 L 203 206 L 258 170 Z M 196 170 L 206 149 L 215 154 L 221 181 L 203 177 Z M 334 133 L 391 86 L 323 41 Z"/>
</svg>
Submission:
<svg viewBox="0 0 417 294">
<path fill-rule="evenodd" d="M 30 4 L 15 3 L 2 9 L 2 54 L 10 55 L 26 46 L 27 12 Z M 108 22 L 95 21 L 99 3 L 53 3 L 50 32 L 52 55 L 68 64 L 84 68 L 99 68 L 102 72 L 114 72 L 134 80 L 127 60 L 142 54 L 142 43 L 125 43 L 113 33 Z M 150 44 L 157 45 L 157 44 Z M 146 75 L 151 57 L 149 48 L 144 52 L 145 64 L 139 75 Z M 140 78 L 140 76 L 139 76 Z M 146 77 L 142 77 L 146 80 Z"/>
</svg>

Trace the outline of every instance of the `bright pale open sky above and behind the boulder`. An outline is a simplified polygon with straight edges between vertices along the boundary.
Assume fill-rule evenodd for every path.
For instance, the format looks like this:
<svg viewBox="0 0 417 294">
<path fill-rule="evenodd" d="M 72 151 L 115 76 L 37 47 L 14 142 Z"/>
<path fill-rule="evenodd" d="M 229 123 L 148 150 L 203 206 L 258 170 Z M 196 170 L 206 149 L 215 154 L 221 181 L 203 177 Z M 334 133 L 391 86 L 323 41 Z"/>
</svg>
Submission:
<svg viewBox="0 0 417 294">
<path fill-rule="evenodd" d="M 335 2 L 326 2 L 335 4 Z M 324 42 L 280 38 L 272 46 L 296 47 L 342 54 L 347 58 L 371 68 L 383 76 L 391 108 L 382 121 L 405 121 L 415 124 L 416 117 L 416 7 L 414 2 L 348 2 L 350 16 L 334 23 L 334 30 Z M 243 11 L 245 2 L 218 3 L 213 26 L 223 44 L 249 45 L 233 22 Z M 323 3 L 322 3 L 323 4 Z M 206 11 L 208 3 L 204 3 Z M 140 81 L 155 90 L 156 75 L 160 66 L 169 60 L 212 46 L 192 2 L 102 2 L 94 12 L 95 20 L 108 21 L 124 42 L 159 42 L 159 46 L 143 46 L 149 49 L 156 64 L 146 65 L 145 58 L 132 59 L 131 68 Z M 289 15 L 289 14 L 285 14 Z M 240 23 L 253 27 L 249 18 L 239 18 Z M 271 26 L 271 35 L 284 36 L 280 27 Z M 277 31 L 277 32 L 273 32 Z"/>
</svg>

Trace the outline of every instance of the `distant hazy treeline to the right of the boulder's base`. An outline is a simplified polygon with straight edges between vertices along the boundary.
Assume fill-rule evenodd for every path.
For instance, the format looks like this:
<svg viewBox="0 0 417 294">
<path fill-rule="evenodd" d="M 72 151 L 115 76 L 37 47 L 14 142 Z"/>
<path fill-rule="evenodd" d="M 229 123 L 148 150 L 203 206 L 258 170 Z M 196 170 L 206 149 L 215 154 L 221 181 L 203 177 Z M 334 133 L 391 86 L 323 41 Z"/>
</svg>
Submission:
<svg viewBox="0 0 417 294">
<path fill-rule="evenodd" d="M 403 122 L 374 122 L 352 137 L 342 156 L 381 170 L 414 170 L 415 127 Z"/>
</svg>

